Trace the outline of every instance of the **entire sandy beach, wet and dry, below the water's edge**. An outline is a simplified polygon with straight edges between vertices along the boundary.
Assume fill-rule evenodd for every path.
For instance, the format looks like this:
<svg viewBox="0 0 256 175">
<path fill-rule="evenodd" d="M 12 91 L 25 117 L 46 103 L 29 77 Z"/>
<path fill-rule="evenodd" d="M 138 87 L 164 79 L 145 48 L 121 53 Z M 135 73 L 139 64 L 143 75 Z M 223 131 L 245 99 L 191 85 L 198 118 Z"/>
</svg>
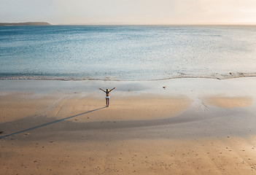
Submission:
<svg viewBox="0 0 256 175">
<path fill-rule="evenodd" d="M 0 174 L 255 174 L 255 86 L 0 80 Z"/>
</svg>

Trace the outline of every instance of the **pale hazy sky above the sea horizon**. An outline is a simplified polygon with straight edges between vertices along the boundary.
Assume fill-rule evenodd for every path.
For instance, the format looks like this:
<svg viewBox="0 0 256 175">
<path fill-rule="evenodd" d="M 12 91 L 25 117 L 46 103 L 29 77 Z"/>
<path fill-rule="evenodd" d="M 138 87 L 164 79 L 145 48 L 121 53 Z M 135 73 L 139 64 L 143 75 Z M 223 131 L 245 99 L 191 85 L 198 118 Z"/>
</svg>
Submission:
<svg viewBox="0 0 256 175">
<path fill-rule="evenodd" d="M 0 0 L 0 23 L 256 24 L 256 0 Z"/>
</svg>

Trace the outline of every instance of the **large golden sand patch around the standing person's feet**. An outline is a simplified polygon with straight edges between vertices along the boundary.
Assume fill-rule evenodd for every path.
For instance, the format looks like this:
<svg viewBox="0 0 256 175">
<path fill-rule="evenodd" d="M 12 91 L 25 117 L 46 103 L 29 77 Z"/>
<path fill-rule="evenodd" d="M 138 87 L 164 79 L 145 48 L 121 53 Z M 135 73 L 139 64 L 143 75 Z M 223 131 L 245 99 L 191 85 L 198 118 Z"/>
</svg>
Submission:
<svg viewBox="0 0 256 175">
<path fill-rule="evenodd" d="M 85 111 L 100 109 L 105 106 L 103 97 L 81 97 L 81 94 L 47 94 L 36 96 L 33 93 L 6 93 L 0 96 L 0 122 L 18 120 L 32 115 L 41 115 L 61 119 Z M 119 120 L 153 120 L 175 116 L 191 105 L 186 96 L 155 96 L 155 94 L 138 96 L 114 96 L 111 106 L 90 113 L 77 122 L 119 121 Z M 12 110 L 15 109 L 15 110 Z"/>
</svg>

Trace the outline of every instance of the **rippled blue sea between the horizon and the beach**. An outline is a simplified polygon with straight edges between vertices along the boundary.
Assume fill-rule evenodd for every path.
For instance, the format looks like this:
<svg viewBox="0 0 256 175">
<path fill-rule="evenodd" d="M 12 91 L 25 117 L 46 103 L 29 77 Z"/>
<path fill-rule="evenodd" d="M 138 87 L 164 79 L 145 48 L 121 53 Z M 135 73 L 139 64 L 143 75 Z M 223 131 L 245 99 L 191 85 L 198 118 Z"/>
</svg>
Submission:
<svg viewBox="0 0 256 175">
<path fill-rule="evenodd" d="M 256 26 L 0 26 L 0 79 L 256 75 Z"/>
</svg>

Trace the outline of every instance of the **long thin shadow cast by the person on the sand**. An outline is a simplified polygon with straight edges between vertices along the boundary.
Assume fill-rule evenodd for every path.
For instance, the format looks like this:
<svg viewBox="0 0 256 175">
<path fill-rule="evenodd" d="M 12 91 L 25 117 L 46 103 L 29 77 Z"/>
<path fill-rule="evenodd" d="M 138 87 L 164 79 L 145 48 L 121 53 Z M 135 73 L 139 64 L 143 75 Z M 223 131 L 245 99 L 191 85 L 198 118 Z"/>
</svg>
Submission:
<svg viewBox="0 0 256 175">
<path fill-rule="evenodd" d="M 67 119 L 70 119 L 70 118 L 73 118 L 73 117 L 77 117 L 77 116 L 82 115 L 82 114 L 88 114 L 88 113 L 90 113 L 90 112 L 96 112 L 96 111 L 98 111 L 98 110 L 100 110 L 100 109 L 104 109 L 104 108 L 106 108 L 106 106 L 105 106 L 105 107 L 98 108 L 98 109 L 93 109 L 93 110 L 88 111 L 88 112 L 83 112 L 83 113 L 81 113 L 81 114 L 72 115 L 72 116 L 70 116 L 70 117 L 66 117 L 66 118 L 63 118 L 63 119 L 54 120 L 53 122 L 50 122 L 50 123 L 44 123 L 44 124 L 42 124 L 42 125 L 37 125 L 37 126 L 34 126 L 34 127 L 32 127 L 32 128 L 28 128 L 28 129 L 25 129 L 25 130 L 22 130 L 22 131 L 17 131 L 17 132 L 15 132 L 15 133 L 9 133 L 9 134 L 7 134 L 7 135 L 0 136 L 0 139 L 4 139 L 4 138 L 6 138 L 6 137 L 8 137 L 8 136 L 13 136 L 13 135 L 18 134 L 18 133 L 24 133 L 24 132 L 26 132 L 26 131 L 31 131 L 31 130 L 34 130 L 34 129 L 36 129 L 36 128 L 42 128 L 42 127 L 44 127 L 44 126 L 46 126 L 46 125 L 51 125 L 51 124 L 53 124 L 53 123 L 58 123 L 58 122 L 61 122 L 61 121 L 63 121 L 63 120 L 67 120 Z"/>
</svg>

